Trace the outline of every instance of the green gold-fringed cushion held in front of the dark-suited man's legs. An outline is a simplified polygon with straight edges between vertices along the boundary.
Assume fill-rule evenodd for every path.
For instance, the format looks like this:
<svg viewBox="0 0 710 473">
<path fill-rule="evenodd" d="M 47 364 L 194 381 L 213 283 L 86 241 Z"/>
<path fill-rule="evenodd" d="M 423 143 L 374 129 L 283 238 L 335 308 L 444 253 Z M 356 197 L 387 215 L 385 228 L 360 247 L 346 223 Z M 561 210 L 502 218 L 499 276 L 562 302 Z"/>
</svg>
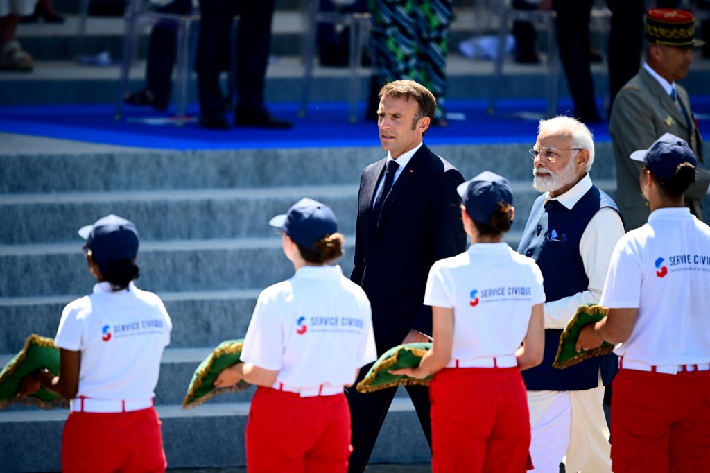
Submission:
<svg viewBox="0 0 710 473">
<path fill-rule="evenodd" d="M 388 349 L 375 361 L 365 378 L 357 384 L 361 393 L 371 393 L 380 389 L 393 388 L 402 383 L 405 386 L 429 386 L 432 376 L 425 379 L 410 378 L 401 374 L 391 374 L 390 370 L 400 368 L 414 368 L 424 354 L 432 348 L 431 342 L 406 343 Z"/>
</svg>

